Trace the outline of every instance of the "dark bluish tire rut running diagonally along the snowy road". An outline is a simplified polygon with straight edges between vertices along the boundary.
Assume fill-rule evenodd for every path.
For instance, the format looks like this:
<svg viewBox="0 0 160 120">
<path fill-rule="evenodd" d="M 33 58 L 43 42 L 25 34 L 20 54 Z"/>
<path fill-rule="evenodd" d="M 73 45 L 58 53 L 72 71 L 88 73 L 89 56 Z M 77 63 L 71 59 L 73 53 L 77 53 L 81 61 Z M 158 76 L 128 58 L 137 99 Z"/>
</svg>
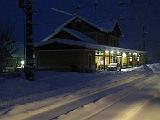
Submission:
<svg viewBox="0 0 160 120">
<path fill-rule="evenodd" d="M 142 77 L 143 76 L 143 77 Z M 141 80 L 142 78 L 146 77 L 145 75 L 142 75 L 141 77 L 137 78 L 137 79 L 134 79 L 132 78 L 130 81 L 126 81 L 127 83 L 124 83 L 124 81 L 120 82 L 120 84 L 115 84 L 115 83 L 112 83 L 110 85 L 108 85 L 108 87 L 105 87 L 103 88 L 103 90 L 99 90 L 97 91 L 96 93 L 92 94 L 92 95 L 88 95 L 88 96 L 85 96 L 79 100 L 76 100 L 76 101 L 73 101 L 67 105 L 64 105 L 64 106 L 60 106 L 59 108 L 57 109 L 54 109 L 54 110 L 51 110 L 48 112 L 47 115 L 43 115 L 43 113 L 41 115 L 38 115 L 38 116 L 35 116 L 35 117 L 32 117 L 30 118 L 29 120 L 34 120 L 38 117 L 38 119 L 41 119 L 42 120 L 54 120 L 54 119 L 57 119 L 60 115 L 62 114 L 67 114 L 69 113 L 70 111 L 73 111 L 75 109 L 77 109 L 78 107 L 80 106 L 83 106 L 85 104 L 88 104 L 88 103 L 91 103 L 91 102 L 94 102 L 94 101 L 97 101 L 98 99 L 104 97 L 105 95 L 108 95 L 109 93 L 109 90 L 119 86 L 119 88 L 117 88 L 116 90 L 119 91 L 120 89 L 124 89 L 125 87 L 127 87 L 128 85 L 131 85 L 133 84 L 132 81 L 137 81 L 137 80 Z M 117 82 L 118 83 L 118 82 Z M 125 86 L 124 86 L 125 84 Z M 112 91 L 112 93 L 114 93 L 115 91 Z M 104 94 L 105 93 L 105 94 Z M 107 94 L 106 94 L 107 93 Z M 111 93 L 110 93 L 111 94 Z M 63 111 L 62 111 L 63 110 Z M 54 114 L 53 114 L 54 113 Z M 41 116 L 41 117 L 40 117 Z M 47 116 L 47 118 L 43 118 L 43 116 Z"/>
</svg>

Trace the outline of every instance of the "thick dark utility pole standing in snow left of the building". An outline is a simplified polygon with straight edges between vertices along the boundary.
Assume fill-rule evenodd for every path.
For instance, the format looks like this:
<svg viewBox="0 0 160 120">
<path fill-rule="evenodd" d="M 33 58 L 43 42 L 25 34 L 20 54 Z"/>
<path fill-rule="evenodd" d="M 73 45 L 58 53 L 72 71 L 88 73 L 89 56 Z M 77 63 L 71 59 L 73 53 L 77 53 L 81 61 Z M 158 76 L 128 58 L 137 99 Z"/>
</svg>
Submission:
<svg viewBox="0 0 160 120">
<path fill-rule="evenodd" d="M 34 46 L 32 41 L 32 0 L 19 0 L 19 7 L 23 9 L 26 16 L 25 30 L 25 66 L 24 72 L 27 80 L 34 80 Z"/>
</svg>

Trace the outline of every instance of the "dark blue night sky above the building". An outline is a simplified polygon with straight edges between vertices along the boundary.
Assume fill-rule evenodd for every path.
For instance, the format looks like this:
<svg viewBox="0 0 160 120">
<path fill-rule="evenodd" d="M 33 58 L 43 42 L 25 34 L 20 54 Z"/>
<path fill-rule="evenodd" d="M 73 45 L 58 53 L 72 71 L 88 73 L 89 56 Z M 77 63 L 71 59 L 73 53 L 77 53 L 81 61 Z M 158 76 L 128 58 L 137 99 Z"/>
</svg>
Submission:
<svg viewBox="0 0 160 120">
<path fill-rule="evenodd" d="M 69 13 L 75 13 L 75 7 L 80 6 L 79 15 L 100 26 L 107 27 L 107 23 L 113 22 L 118 17 L 125 18 L 120 21 L 123 33 L 121 47 L 139 49 L 142 46 L 142 24 L 145 25 L 146 46 L 149 54 L 160 53 L 160 0 L 33 0 L 34 14 L 34 42 L 40 41 L 54 32 L 54 29 L 71 16 L 51 10 L 54 7 Z M 118 1 L 124 1 L 125 5 L 118 5 Z M 24 14 L 18 8 L 18 0 L 0 0 L 0 21 L 7 21 L 15 25 L 15 34 L 19 42 L 23 42 Z M 106 28 L 107 29 L 107 28 Z M 158 52 L 159 50 L 159 52 Z M 160 56 L 160 54 L 159 54 Z"/>
</svg>

